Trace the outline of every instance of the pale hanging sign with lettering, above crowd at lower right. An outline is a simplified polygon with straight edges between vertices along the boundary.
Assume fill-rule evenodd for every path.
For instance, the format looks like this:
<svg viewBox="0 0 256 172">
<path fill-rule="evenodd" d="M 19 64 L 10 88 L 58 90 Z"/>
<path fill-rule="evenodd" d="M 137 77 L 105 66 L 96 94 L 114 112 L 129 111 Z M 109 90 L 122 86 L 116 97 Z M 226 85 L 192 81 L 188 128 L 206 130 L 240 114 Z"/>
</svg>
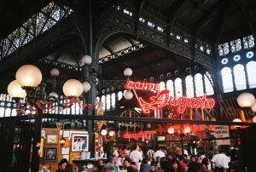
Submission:
<svg viewBox="0 0 256 172">
<path fill-rule="evenodd" d="M 229 126 L 215 125 L 215 138 L 230 137 Z M 230 139 L 216 140 L 217 145 L 230 145 Z"/>
</svg>

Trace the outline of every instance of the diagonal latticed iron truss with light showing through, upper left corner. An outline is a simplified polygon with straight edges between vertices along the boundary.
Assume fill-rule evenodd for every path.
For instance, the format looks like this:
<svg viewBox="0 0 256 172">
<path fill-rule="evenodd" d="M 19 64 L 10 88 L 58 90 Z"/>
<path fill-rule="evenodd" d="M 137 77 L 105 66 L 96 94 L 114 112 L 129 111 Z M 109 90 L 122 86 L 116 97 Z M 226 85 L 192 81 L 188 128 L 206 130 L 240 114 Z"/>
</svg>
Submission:
<svg viewBox="0 0 256 172">
<path fill-rule="evenodd" d="M 0 41 L 0 47 L 2 48 L 0 49 L 0 60 L 7 58 L 17 49 L 32 42 L 35 37 L 48 31 L 72 13 L 73 10 L 66 6 L 59 7 L 55 3 L 49 3 L 38 14 L 34 14 L 32 18 L 23 23 L 15 32 Z"/>
</svg>

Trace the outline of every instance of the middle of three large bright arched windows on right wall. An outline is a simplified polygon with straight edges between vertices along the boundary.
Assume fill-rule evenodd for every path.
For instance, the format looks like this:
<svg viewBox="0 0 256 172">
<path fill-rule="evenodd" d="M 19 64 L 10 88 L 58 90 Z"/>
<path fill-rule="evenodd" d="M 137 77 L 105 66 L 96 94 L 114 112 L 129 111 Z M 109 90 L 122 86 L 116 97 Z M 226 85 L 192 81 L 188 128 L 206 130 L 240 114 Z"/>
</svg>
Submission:
<svg viewBox="0 0 256 172">
<path fill-rule="evenodd" d="M 234 77 L 237 90 L 247 89 L 247 80 L 244 67 L 241 64 L 234 66 Z"/>
</svg>

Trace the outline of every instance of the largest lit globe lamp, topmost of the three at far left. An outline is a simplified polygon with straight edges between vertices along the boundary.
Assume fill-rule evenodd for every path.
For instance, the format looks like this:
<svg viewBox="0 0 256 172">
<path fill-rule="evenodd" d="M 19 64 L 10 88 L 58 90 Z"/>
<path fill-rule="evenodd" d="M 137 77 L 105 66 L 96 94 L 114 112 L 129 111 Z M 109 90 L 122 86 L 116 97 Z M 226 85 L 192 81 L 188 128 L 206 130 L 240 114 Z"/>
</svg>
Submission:
<svg viewBox="0 0 256 172">
<path fill-rule="evenodd" d="M 42 81 L 42 72 L 36 66 L 21 66 L 16 72 L 16 80 L 22 87 L 37 87 Z"/>
</svg>

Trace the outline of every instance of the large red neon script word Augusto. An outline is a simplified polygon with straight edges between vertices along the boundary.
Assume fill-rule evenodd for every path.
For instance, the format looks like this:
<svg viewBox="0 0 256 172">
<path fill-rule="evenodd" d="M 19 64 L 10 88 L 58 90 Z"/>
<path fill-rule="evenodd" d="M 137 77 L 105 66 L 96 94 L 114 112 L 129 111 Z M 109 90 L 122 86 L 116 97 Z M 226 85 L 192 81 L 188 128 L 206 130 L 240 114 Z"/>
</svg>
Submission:
<svg viewBox="0 0 256 172">
<path fill-rule="evenodd" d="M 214 99 L 207 99 L 207 95 L 202 97 L 189 98 L 189 97 L 173 97 L 170 95 L 168 89 L 162 90 L 158 95 L 149 98 L 150 102 L 146 102 L 142 97 L 138 98 L 139 105 L 142 108 L 143 113 L 150 113 L 156 107 L 164 106 L 177 106 L 177 112 L 183 113 L 187 107 L 190 108 L 206 108 L 212 109 L 215 105 Z"/>
</svg>

